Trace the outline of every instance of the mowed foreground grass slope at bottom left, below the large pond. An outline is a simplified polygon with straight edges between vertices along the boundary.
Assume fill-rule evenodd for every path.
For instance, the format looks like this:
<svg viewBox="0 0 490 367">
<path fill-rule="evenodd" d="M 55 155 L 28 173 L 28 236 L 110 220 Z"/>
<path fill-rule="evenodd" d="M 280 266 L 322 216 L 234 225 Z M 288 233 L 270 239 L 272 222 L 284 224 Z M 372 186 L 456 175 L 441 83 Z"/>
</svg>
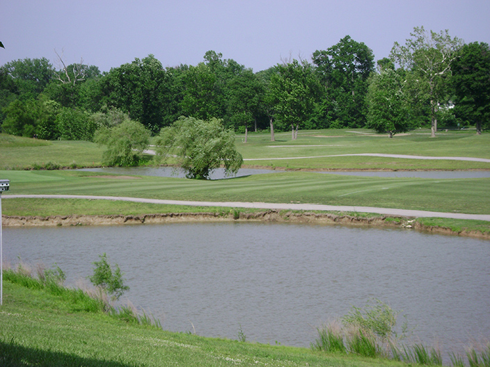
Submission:
<svg viewBox="0 0 490 367">
<path fill-rule="evenodd" d="M 4 283 L 1 366 L 406 366 L 308 348 L 165 332 L 80 311 L 42 289 Z"/>
</svg>

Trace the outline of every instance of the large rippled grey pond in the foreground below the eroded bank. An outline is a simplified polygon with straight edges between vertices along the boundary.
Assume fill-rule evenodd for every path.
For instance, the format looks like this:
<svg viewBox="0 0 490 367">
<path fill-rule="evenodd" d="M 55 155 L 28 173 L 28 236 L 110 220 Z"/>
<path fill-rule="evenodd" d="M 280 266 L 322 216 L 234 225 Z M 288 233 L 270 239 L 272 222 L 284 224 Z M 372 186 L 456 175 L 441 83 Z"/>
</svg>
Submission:
<svg viewBox="0 0 490 367">
<path fill-rule="evenodd" d="M 490 243 L 409 229 L 203 222 L 3 230 L 4 259 L 57 263 L 67 284 L 106 252 L 123 297 L 165 329 L 309 346 L 370 297 L 446 354 L 490 336 Z M 399 318 L 399 323 L 403 318 Z"/>
</svg>

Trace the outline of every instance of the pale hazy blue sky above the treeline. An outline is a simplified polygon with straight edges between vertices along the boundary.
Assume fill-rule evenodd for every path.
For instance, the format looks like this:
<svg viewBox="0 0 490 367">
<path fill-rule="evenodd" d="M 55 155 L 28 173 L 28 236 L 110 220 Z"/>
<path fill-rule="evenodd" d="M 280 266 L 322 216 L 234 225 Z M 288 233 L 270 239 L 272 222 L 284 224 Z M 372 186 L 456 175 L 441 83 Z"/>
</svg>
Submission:
<svg viewBox="0 0 490 367">
<path fill-rule="evenodd" d="M 379 60 L 416 26 L 490 44 L 490 0 L 2 0 L 0 65 L 45 57 L 59 69 L 56 50 L 109 72 L 149 54 L 197 65 L 214 50 L 258 72 L 346 35 Z"/>
</svg>

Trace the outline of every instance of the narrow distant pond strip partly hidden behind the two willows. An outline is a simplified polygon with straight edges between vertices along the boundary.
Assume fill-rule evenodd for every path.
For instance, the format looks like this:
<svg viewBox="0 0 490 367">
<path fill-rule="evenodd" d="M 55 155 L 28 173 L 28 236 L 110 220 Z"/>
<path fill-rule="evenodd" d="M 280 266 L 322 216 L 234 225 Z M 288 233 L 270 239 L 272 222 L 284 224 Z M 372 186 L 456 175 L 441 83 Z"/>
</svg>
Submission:
<svg viewBox="0 0 490 367">
<path fill-rule="evenodd" d="M 106 167 L 106 168 L 82 168 L 81 171 L 88 172 L 106 172 L 116 174 L 129 174 L 141 176 L 157 176 L 157 177 L 185 177 L 185 171 L 181 169 L 175 170 L 170 167 Z M 264 174 L 284 172 L 280 170 L 264 170 L 241 168 L 233 177 L 249 176 L 251 174 Z M 364 177 L 416 177 L 422 179 L 479 179 L 490 178 L 489 171 L 318 171 L 323 174 L 344 174 L 349 176 L 364 176 Z M 210 174 L 210 179 L 224 179 L 225 171 L 223 168 L 216 169 Z"/>
</svg>

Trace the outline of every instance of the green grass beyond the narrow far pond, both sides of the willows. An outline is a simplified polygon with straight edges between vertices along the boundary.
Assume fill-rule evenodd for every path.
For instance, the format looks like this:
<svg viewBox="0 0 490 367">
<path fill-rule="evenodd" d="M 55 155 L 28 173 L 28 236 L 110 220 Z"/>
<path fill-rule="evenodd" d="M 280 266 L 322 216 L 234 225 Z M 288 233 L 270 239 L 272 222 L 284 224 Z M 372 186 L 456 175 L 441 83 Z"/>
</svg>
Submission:
<svg viewBox="0 0 490 367">
<path fill-rule="evenodd" d="M 430 138 L 429 131 L 417 130 L 393 139 L 367 129 L 300 131 L 292 141 L 290 133 L 267 132 L 237 136 L 237 149 L 246 165 L 310 170 L 490 170 L 490 163 L 467 161 L 420 161 L 339 154 L 409 154 L 419 156 L 470 156 L 490 158 L 490 134 L 450 131 Z M 0 134 L 0 169 L 22 170 L 48 165 L 61 167 L 100 166 L 103 147 L 93 142 L 44 141 Z M 301 158 L 294 157 L 322 157 Z M 274 158 L 274 159 L 272 159 Z M 276 159 L 282 158 L 282 159 Z M 255 160 L 254 160 L 255 159 Z"/>
</svg>

